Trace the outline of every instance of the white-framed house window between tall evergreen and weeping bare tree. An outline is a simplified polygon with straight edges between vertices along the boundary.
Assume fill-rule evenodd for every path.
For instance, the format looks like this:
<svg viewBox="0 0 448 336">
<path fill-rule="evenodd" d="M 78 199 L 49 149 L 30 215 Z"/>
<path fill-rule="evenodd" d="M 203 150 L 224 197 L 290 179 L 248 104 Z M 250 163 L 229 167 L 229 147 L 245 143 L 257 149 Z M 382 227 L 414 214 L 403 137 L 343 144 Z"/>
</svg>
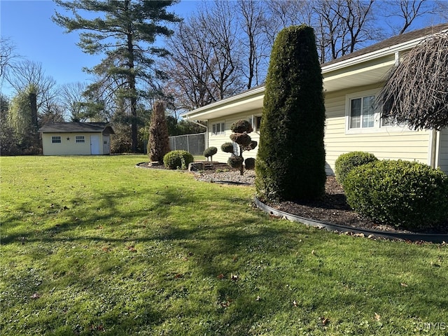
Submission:
<svg viewBox="0 0 448 336">
<path fill-rule="evenodd" d="M 374 127 L 374 102 L 374 95 L 350 99 L 350 129 Z"/>
</svg>

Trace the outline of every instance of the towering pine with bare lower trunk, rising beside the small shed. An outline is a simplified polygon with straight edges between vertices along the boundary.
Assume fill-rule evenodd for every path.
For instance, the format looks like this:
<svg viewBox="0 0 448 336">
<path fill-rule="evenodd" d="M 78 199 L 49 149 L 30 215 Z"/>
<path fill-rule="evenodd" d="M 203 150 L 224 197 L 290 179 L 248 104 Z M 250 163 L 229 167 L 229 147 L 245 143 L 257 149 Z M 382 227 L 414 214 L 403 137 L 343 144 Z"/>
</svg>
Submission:
<svg viewBox="0 0 448 336">
<path fill-rule="evenodd" d="M 137 80 L 144 80 L 154 87 L 153 69 L 155 56 L 163 56 L 166 50 L 151 45 L 158 36 L 170 36 L 172 31 L 161 22 L 179 22 L 180 19 L 166 8 L 172 0 L 55 0 L 57 5 L 73 13 L 73 17 L 55 13 L 52 20 L 67 32 L 81 30 L 80 48 L 88 54 L 106 55 L 92 73 L 102 81 L 115 85 L 120 94 L 130 102 L 132 116 L 132 151 L 137 151 L 138 116 L 137 101 L 142 91 Z M 82 14 L 85 14 L 83 18 Z M 92 18 L 92 15 L 97 15 Z M 88 17 L 88 18 L 87 18 Z"/>
</svg>

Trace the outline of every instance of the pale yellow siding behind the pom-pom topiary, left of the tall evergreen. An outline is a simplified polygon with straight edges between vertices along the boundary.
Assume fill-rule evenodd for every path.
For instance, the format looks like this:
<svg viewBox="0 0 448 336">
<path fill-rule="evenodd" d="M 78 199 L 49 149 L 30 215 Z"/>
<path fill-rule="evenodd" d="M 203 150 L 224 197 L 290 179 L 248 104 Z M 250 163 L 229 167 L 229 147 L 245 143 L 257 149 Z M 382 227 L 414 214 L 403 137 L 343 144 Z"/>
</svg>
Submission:
<svg viewBox="0 0 448 336">
<path fill-rule="evenodd" d="M 230 134 L 232 134 L 232 131 L 230 130 L 230 127 L 233 123 L 236 123 L 238 120 L 245 119 L 248 120 L 248 118 L 251 118 L 251 116 L 260 116 L 261 115 L 261 109 L 254 110 L 254 111 L 248 111 L 244 113 L 237 113 L 232 116 L 227 116 L 226 118 L 216 118 L 209 120 L 209 147 L 216 147 L 218 148 L 218 152 L 213 155 L 213 160 L 218 162 L 227 162 L 228 158 L 230 157 L 230 153 L 224 153 L 221 151 L 221 145 L 225 142 L 232 142 L 230 140 Z M 219 135 L 213 135 L 211 134 L 211 125 L 216 123 L 225 123 L 225 134 L 219 134 Z M 251 136 L 251 139 L 253 141 L 260 141 L 260 134 L 258 132 L 251 132 L 249 133 Z M 246 158 L 256 158 L 257 156 L 257 148 L 255 148 L 254 151 L 246 151 L 243 153 L 244 159 Z"/>
</svg>

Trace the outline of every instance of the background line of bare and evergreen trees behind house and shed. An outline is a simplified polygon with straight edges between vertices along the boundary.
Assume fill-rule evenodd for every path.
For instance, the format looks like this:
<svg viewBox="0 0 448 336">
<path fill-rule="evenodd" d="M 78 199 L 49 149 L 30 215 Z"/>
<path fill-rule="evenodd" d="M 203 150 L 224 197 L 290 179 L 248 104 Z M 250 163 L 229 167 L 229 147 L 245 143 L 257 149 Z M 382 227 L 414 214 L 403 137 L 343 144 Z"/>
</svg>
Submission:
<svg viewBox="0 0 448 336">
<path fill-rule="evenodd" d="M 179 1 L 54 1 L 55 24 L 78 32 L 79 48 L 103 58 L 84 69 L 91 83 L 60 86 L 2 38 L 0 79 L 15 91 L 0 96 L 2 155 L 38 153 L 38 127 L 62 120 L 110 122 L 113 151 L 143 151 L 158 99 L 166 102 L 170 135 L 203 132 L 179 115 L 263 84 L 283 27 L 314 27 L 325 63 L 448 13 L 447 3 L 430 0 L 214 0 L 180 18 Z"/>
</svg>

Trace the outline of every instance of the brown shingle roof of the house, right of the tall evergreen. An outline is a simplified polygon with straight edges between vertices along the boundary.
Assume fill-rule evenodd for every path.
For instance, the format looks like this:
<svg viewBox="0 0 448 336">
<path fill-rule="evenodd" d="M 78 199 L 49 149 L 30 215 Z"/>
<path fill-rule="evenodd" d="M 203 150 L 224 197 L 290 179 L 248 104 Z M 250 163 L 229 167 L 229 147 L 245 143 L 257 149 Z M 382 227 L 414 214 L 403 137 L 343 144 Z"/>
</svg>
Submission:
<svg viewBox="0 0 448 336">
<path fill-rule="evenodd" d="M 365 54 L 368 54 L 370 52 L 374 52 L 374 51 L 377 51 L 377 50 L 381 50 L 381 49 L 384 49 L 384 48 L 391 47 L 393 45 L 397 45 L 397 44 L 400 44 L 400 43 L 405 43 L 407 41 L 412 41 L 412 40 L 414 40 L 416 38 L 420 38 L 420 37 L 423 37 L 423 36 L 429 36 L 431 34 L 438 33 L 438 32 L 440 32 L 442 30 L 445 30 L 445 29 L 448 29 L 448 22 L 447 23 L 442 23 L 441 25 L 436 25 L 436 26 L 426 27 L 426 28 L 423 28 L 423 29 L 409 31 L 409 33 L 393 36 L 391 38 L 387 38 L 386 40 L 381 41 L 379 43 L 375 43 L 375 44 L 369 45 L 368 47 L 365 47 L 363 49 L 353 51 L 350 54 L 344 55 L 344 56 L 339 57 L 337 59 L 332 59 L 331 61 L 322 64 L 322 66 L 327 66 L 327 65 L 330 65 L 330 64 L 334 64 L 334 63 L 337 63 L 337 62 L 344 61 L 345 59 L 350 59 L 350 58 L 358 57 L 358 56 L 361 56 L 361 55 L 365 55 Z"/>
</svg>

